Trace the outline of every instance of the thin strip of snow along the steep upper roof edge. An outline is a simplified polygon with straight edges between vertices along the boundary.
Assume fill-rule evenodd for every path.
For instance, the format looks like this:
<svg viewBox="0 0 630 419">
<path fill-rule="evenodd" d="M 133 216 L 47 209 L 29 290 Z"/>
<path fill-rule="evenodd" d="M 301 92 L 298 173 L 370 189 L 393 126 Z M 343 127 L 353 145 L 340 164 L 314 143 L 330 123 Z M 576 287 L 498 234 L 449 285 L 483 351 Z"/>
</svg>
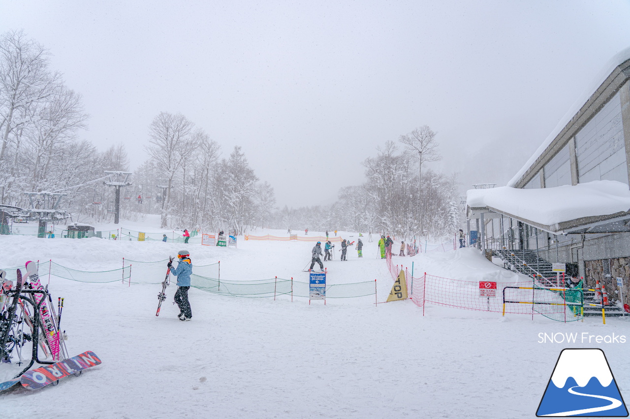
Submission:
<svg viewBox="0 0 630 419">
<path fill-rule="evenodd" d="M 515 174 L 514 177 L 512 177 L 512 179 L 510 179 L 507 186 L 514 186 L 516 182 L 518 182 L 518 180 L 525 174 L 525 172 L 527 172 L 527 169 L 529 169 L 534 164 L 534 162 L 536 162 L 536 160 L 539 157 L 541 157 L 541 154 L 547 149 L 547 147 L 549 147 L 549 145 L 553 142 L 553 140 L 556 137 L 558 137 L 558 134 L 560 133 L 560 131 L 562 131 L 564 127 L 571 121 L 573 116 L 575 116 L 575 114 L 578 113 L 578 111 L 580 111 L 581 107 L 584 106 L 585 103 L 587 103 L 588 99 L 591 96 L 593 96 L 593 93 L 595 93 L 597 89 L 599 89 L 599 87 L 602 86 L 602 83 L 606 81 L 610 73 L 614 71 L 617 65 L 629 59 L 630 59 L 630 47 L 627 47 L 626 49 L 621 50 L 620 52 L 616 53 L 607 62 L 607 64 L 604 65 L 604 67 L 602 67 L 599 73 L 595 75 L 595 77 L 593 78 L 593 81 L 590 83 L 588 88 L 585 89 L 585 91 L 582 92 L 581 96 L 571 105 L 571 108 L 569 108 L 567 113 L 564 114 L 562 119 L 558 122 L 558 125 L 556 125 L 556 128 L 554 128 L 554 130 L 551 131 L 551 134 L 549 134 L 549 136 L 544 140 L 544 142 L 542 142 L 541 146 L 538 147 L 538 149 L 532 155 L 532 157 L 530 157 L 529 160 L 527 160 L 525 165 L 521 167 L 520 170 L 518 170 L 517 174 Z"/>
</svg>

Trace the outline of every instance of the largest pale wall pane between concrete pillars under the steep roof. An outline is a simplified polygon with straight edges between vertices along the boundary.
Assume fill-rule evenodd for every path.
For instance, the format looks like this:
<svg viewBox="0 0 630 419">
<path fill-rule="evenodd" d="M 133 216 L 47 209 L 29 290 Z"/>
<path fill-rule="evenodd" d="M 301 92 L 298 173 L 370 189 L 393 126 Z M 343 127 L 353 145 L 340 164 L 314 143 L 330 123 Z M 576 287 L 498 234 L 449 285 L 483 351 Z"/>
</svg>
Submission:
<svg viewBox="0 0 630 419">
<path fill-rule="evenodd" d="M 627 184 L 624 141 L 621 99 L 617 93 L 575 135 L 580 183 L 609 180 Z"/>
</svg>

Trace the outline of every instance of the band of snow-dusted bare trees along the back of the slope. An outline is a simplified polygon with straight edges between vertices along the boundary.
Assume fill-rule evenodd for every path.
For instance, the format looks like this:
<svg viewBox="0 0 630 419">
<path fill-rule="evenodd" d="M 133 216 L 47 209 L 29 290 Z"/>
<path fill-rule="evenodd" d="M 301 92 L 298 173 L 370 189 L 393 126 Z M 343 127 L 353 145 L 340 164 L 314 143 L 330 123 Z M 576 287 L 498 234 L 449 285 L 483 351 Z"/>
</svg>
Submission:
<svg viewBox="0 0 630 419">
<path fill-rule="evenodd" d="M 363 162 L 365 182 L 342 187 L 335 203 L 278 209 L 272 185 L 258 179 L 241 147 L 222 157 L 220 143 L 180 113 L 161 112 L 147 126 L 148 158 L 137 168 L 130 167 L 123 144 L 100 151 L 82 140 L 89 116 L 81 95 L 50 68 L 49 54 L 23 31 L 0 37 L 3 204 L 26 208 L 25 192 L 61 192 L 73 216 L 107 221 L 113 188 L 104 184 L 104 172 L 122 170 L 134 173 L 132 186 L 123 188 L 122 218 L 159 214 L 163 228 L 442 237 L 459 226 L 455 176 L 425 167 L 440 159 L 435 133 L 426 125 L 377 148 Z"/>
</svg>

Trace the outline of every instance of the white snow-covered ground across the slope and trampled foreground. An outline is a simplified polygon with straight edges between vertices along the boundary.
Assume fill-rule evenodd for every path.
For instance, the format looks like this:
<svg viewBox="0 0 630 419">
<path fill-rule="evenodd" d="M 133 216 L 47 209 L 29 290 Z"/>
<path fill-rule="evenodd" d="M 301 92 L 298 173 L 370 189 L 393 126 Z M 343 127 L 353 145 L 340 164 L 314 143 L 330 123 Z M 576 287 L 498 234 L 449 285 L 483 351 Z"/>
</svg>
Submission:
<svg viewBox="0 0 630 419">
<path fill-rule="evenodd" d="M 364 242 L 364 258 L 351 249 L 348 262 L 337 252 L 336 260 L 326 263 L 328 283 L 377 279 L 378 300 L 384 301 L 391 276 L 377 259 L 376 243 Z M 312 244 L 239 237 L 238 249 L 192 244 L 186 249 L 193 265 L 221 260 L 225 280 L 278 276 L 306 282 L 302 269 Z M 115 269 L 122 257 L 161 260 L 181 247 L 0 236 L 0 267 L 52 259 L 74 269 Z M 416 276 L 426 271 L 467 281 L 519 279 L 471 249 L 394 257 L 394 264 L 411 267 L 412 261 Z M 181 322 L 171 304 L 174 286 L 167 289 L 160 316 L 154 315 L 159 288 L 52 277 L 52 296 L 65 298 L 62 328 L 69 352 L 93 350 L 103 364 L 55 387 L 0 395 L 0 416 L 533 418 L 565 347 L 600 347 L 622 394 L 630 389 L 628 344 L 596 344 L 594 338 L 588 343 L 590 335 L 613 333 L 627 342 L 630 322 L 624 319 L 564 324 L 440 306 L 427 306 L 422 316 L 411 301 L 376 306 L 374 296 L 328 299 L 324 306 L 304 298 L 234 298 L 191 289 L 193 320 Z M 580 334 L 575 344 L 539 343 L 539 333 L 564 332 L 586 333 L 587 341 L 580 342 Z M 0 364 L 0 379 L 8 378 L 9 369 Z"/>
</svg>

